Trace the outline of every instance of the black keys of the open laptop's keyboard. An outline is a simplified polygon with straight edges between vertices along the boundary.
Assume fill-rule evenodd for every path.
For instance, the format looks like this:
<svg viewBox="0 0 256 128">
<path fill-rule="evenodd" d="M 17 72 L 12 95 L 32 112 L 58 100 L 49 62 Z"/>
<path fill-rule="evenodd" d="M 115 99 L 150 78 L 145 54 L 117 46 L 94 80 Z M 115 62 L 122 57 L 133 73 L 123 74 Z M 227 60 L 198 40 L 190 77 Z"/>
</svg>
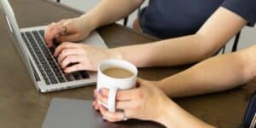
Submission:
<svg viewBox="0 0 256 128">
<path fill-rule="evenodd" d="M 81 79 L 89 79 L 86 71 L 63 73 L 54 57 L 55 46 L 48 48 L 44 42 L 44 30 L 21 32 L 29 52 L 32 55 L 45 84 L 59 84 Z"/>
</svg>

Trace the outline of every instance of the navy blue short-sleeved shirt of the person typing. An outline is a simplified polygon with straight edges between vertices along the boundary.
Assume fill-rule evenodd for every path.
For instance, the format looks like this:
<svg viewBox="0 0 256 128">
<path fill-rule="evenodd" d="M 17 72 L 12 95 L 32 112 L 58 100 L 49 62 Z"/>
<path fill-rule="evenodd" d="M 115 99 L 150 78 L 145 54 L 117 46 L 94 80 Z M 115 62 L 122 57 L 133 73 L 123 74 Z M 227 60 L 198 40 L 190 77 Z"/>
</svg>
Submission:
<svg viewBox="0 0 256 128">
<path fill-rule="evenodd" d="M 193 34 L 218 9 L 224 7 L 247 20 L 256 20 L 256 0 L 150 0 L 139 15 L 143 32 L 158 38 Z"/>
</svg>

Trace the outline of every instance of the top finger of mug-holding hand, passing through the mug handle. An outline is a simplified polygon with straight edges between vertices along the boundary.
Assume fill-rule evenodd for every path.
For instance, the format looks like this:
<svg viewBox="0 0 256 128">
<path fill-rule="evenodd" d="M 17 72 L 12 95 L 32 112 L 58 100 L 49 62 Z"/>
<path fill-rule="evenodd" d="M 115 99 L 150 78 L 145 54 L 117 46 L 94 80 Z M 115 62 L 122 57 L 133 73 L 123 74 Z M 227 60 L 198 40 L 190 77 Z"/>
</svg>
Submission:
<svg viewBox="0 0 256 128">
<path fill-rule="evenodd" d="M 137 91 L 137 89 L 131 89 L 131 90 L 118 90 L 116 93 L 116 100 L 119 101 L 125 101 L 125 100 L 131 100 L 133 98 L 134 91 Z M 102 95 L 108 97 L 108 89 L 102 89 Z"/>
</svg>

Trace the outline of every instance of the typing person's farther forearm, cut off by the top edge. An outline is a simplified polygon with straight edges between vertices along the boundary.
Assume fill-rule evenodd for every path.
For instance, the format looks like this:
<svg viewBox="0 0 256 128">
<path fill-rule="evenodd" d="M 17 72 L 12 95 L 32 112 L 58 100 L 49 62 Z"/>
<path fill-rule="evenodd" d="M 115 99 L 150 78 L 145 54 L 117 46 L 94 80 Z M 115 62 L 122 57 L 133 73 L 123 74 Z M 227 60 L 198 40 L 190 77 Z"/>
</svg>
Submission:
<svg viewBox="0 0 256 128">
<path fill-rule="evenodd" d="M 89 20 L 90 26 L 96 29 L 99 26 L 123 19 L 137 9 L 141 3 L 143 3 L 143 0 L 102 0 L 101 3 L 82 15 L 81 18 Z"/>
</svg>

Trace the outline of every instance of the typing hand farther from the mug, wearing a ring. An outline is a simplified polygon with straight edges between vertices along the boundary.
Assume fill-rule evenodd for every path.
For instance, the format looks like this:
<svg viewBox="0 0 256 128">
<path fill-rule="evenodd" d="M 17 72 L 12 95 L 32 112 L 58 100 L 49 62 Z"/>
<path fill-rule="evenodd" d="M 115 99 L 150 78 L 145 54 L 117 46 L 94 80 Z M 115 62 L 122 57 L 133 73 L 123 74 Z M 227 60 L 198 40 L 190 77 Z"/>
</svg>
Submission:
<svg viewBox="0 0 256 128">
<path fill-rule="evenodd" d="M 54 39 L 59 43 L 65 41 L 76 42 L 86 38 L 94 29 L 94 27 L 89 26 L 86 19 L 73 18 L 61 20 L 47 26 L 44 32 L 44 39 L 47 46 L 52 47 Z"/>
</svg>

